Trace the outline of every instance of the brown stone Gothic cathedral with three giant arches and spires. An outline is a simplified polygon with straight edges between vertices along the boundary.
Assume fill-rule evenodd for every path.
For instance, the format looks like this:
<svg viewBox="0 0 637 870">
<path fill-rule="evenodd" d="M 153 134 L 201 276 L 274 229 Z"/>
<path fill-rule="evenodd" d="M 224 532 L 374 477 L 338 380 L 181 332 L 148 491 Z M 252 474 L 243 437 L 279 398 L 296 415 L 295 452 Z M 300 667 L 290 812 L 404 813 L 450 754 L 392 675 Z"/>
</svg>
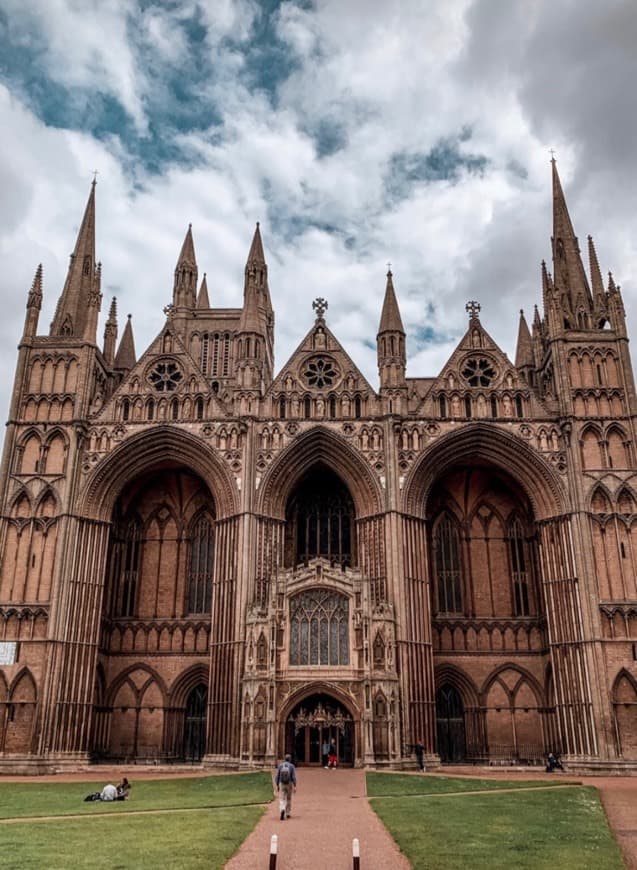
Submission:
<svg viewBox="0 0 637 870">
<path fill-rule="evenodd" d="M 237 308 L 188 228 L 137 356 L 95 182 L 47 333 L 26 302 L 0 476 L 0 772 L 89 762 L 637 769 L 637 397 L 620 287 L 555 162 L 515 362 L 467 305 L 407 377 L 391 271 L 361 374 L 307 304 L 274 368 L 257 224 Z M 247 245 L 246 245 L 247 247 Z M 119 337 L 119 340 L 118 340 Z"/>
</svg>

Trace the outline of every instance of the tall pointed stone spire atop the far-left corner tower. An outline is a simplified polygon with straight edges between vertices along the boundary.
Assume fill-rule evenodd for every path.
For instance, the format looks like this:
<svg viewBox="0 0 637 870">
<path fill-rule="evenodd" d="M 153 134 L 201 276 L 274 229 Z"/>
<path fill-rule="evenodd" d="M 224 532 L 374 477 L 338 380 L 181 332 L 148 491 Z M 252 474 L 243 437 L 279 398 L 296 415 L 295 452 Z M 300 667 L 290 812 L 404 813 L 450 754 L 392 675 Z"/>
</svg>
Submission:
<svg viewBox="0 0 637 870">
<path fill-rule="evenodd" d="M 101 299 L 95 263 L 95 187 L 96 181 L 93 179 L 64 288 L 51 324 L 51 335 L 86 337 L 92 341 L 96 338 L 94 334 L 86 335 L 87 326 L 90 331 L 95 320 L 94 310 L 97 308 L 99 311 Z"/>
</svg>

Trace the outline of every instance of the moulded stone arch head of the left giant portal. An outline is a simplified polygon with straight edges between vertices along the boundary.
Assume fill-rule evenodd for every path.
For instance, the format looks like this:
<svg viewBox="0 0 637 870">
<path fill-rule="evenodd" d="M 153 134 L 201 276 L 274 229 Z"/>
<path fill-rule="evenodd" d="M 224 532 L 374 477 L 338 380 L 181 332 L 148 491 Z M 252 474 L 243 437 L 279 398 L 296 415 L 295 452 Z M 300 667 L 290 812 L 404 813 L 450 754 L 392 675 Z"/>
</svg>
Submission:
<svg viewBox="0 0 637 870">
<path fill-rule="evenodd" d="M 169 465 L 186 466 L 202 478 L 215 498 L 217 519 L 238 511 L 236 484 L 208 444 L 183 429 L 158 426 L 128 438 L 97 466 L 84 490 L 80 513 L 110 521 L 115 501 L 128 481 Z"/>
</svg>

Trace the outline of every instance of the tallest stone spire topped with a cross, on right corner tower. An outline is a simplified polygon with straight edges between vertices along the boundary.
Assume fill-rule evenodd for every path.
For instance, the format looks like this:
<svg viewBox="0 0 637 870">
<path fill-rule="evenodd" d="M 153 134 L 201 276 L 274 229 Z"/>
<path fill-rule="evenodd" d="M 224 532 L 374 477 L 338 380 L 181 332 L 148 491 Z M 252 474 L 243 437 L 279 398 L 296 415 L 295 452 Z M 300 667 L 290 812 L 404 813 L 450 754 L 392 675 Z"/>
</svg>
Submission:
<svg viewBox="0 0 637 870">
<path fill-rule="evenodd" d="M 560 296 L 568 298 L 575 313 L 578 300 L 585 301 L 589 311 L 593 307 L 591 291 L 580 256 L 579 243 L 568 213 L 566 198 L 557 172 L 555 158 L 551 159 L 553 177 L 553 273 Z"/>
</svg>

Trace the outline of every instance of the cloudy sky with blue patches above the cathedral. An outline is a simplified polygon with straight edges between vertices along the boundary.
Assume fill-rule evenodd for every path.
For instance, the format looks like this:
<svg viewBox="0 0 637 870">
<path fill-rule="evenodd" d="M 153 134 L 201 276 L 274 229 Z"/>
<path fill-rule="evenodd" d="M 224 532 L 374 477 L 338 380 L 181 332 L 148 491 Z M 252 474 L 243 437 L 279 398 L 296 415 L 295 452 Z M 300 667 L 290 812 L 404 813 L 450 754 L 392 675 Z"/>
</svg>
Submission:
<svg viewBox="0 0 637 870">
<path fill-rule="evenodd" d="M 26 294 L 48 332 L 93 170 L 110 298 L 138 355 L 192 222 L 213 306 L 261 221 L 277 367 L 327 321 L 377 384 L 391 261 L 408 374 L 465 303 L 511 357 L 550 260 L 550 154 L 637 336 L 634 0 L 0 0 L 0 417 Z"/>
</svg>

